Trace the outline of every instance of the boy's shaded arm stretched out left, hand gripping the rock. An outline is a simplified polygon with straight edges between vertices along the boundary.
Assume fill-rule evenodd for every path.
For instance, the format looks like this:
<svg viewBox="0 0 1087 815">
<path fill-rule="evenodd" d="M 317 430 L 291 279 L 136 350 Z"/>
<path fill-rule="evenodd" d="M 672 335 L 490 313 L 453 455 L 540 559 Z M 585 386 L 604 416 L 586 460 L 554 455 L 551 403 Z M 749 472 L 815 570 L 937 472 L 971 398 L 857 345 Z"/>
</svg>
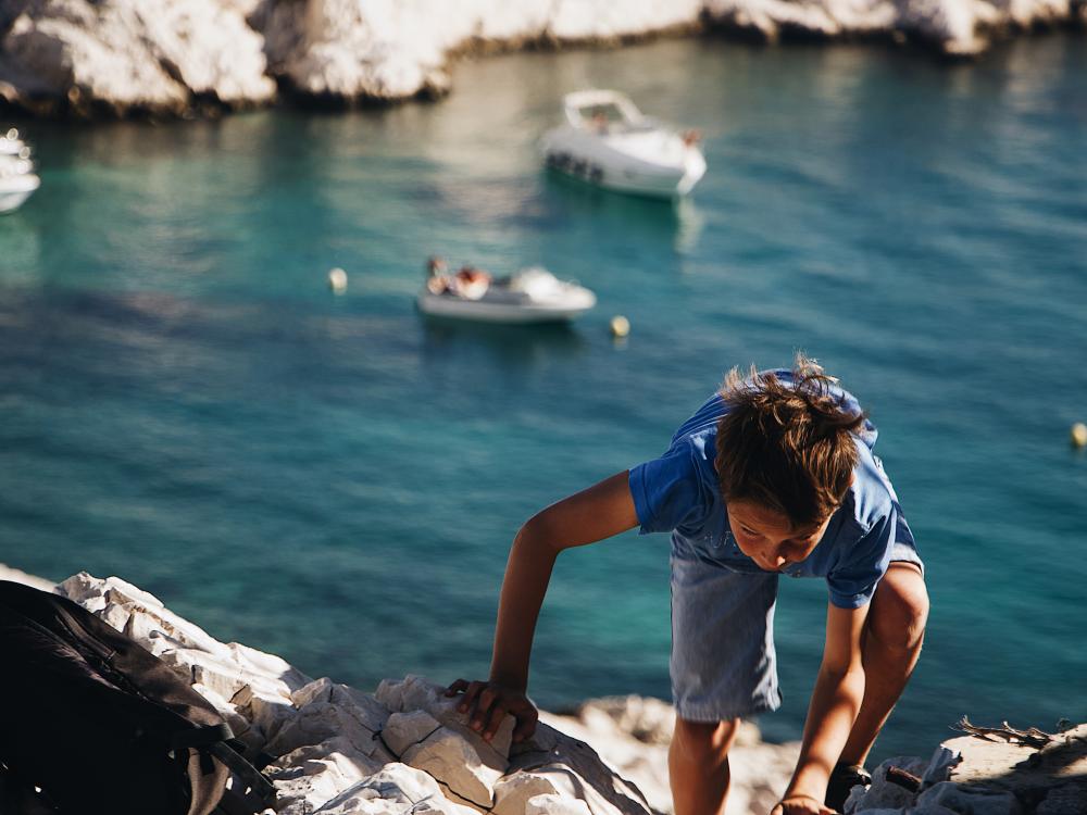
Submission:
<svg viewBox="0 0 1087 815">
<path fill-rule="evenodd" d="M 498 605 L 490 679 L 449 686 L 447 695 L 463 692 L 459 709 L 471 726 L 491 739 L 505 714 L 517 720 L 514 741 L 536 729 L 537 713 L 528 701 L 528 661 L 533 635 L 554 560 L 563 549 L 594 543 L 638 524 L 628 473 L 623 471 L 529 518 L 510 550 Z"/>
</svg>

